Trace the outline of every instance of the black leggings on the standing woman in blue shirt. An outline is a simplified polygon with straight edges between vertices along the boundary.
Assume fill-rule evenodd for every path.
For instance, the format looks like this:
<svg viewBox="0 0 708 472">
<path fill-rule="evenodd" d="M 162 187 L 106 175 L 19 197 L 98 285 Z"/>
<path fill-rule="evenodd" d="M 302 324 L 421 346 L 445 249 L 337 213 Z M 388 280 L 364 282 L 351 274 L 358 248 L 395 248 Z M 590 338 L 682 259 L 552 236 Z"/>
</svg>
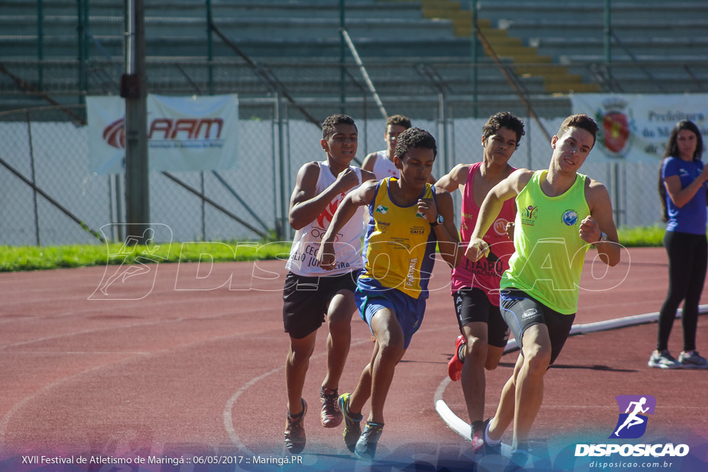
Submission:
<svg viewBox="0 0 708 472">
<path fill-rule="evenodd" d="M 683 350 L 696 348 L 698 303 L 703 291 L 708 260 L 708 242 L 704 234 L 666 231 L 664 247 L 668 253 L 668 294 L 659 312 L 656 349 L 668 347 L 673 320 L 682 300 Z"/>
</svg>

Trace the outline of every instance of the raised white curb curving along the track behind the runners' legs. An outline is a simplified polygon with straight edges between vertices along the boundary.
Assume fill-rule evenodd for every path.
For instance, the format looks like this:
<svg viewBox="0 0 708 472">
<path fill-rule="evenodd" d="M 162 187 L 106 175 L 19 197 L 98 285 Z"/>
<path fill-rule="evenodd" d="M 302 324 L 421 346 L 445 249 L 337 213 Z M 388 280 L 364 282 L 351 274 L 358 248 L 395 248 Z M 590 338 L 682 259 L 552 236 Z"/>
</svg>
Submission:
<svg viewBox="0 0 708 472">
<path fill-rule="evenodd" d="M 701 314 L 708 313 L 708 305 L 699 306 L 698 311 Z M 678 310 L 678 312 L 676 313 L 677 318 L 678 316 L 680 316 L 680 313 L 683 313 L 683 311 Z M 641 325 L 644 323 L 653 323 L 658 321 L 658 317 L 659 313 L 658 311 L 655 311 L 653 313 L 644 313 L 643 315 L 625 316 L 623 318 L 597 321 L 595 323 L 573 325 L 573 328 L 571 328 L 571 336 L 576 334 L 595 333 L 598 331 L 625 328 L 627 326 Z M 515 350 L 516 348 L 518 348 L 516 340 L 512 339 L 507 343 L 506 347 L 504 348 L 504 354 Z M 450 383 L 452 383 L 450 377 L 445 376 L 445 379 L 440 382 L 440 385 L 438 385 L 438 388 L 435 390 L 435 397 L 433 398 L 433 403 L 435 404 L 435 411 L 438 412 L 438 415 L 440 415 L 442 421 L 444 421 L 445 424 L 450 427 L 451 430 L 464 437 L 464 439 L 467 439 L 467 441 L 472 442 L 472 437 L 470 435 L 471 429 L 469 427 L 469 424 L 466 421 L 462 420 L 462 418 L 459 418 L 459 416 L 455 415 L 455 413 L 450 410 L 450 407 L 447 406 L 447 403 L 442 400 L 442 394 L 445 393 L 445 388 L 447 388 Z M 502 443 L 502 452 L 503 454 L 508 456 L 510 448 L 507 444 Z"/>
</svg>

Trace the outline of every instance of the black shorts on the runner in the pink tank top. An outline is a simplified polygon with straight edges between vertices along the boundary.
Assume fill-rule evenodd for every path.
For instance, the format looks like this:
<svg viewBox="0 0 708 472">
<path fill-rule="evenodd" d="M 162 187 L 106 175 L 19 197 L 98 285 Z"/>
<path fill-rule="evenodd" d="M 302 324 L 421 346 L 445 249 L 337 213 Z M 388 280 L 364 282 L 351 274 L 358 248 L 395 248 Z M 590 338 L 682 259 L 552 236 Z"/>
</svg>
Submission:
<svg viewBox="0 0 708 472">
<path fill-rule="evenodd" d="M 462 333 L 462 326 L 467 323 L 481 322 L 487 325 L 487 344 L 504 347 L 509 339 L 509 328 L 501 316 L 499 307 L 491 304 L 486 292 L 479 287 L 466 287 L 452 294 L 455 300 L 457 324 Z"/>
</svg>

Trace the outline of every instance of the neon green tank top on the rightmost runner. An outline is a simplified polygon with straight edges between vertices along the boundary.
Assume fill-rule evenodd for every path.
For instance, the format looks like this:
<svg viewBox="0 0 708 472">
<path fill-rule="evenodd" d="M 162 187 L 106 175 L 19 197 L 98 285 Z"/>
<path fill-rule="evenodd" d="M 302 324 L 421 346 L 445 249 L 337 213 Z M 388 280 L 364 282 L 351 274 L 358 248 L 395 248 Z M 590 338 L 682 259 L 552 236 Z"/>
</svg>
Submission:
<svg viewBox="0 0 708 472">
<path fill-rule="evenodd" d="M 516 197 L 514 247 L 501 288 L 520 289 L 550 309 L 566 315 L 578 311 L 580 275 L 590 245 L 580 224 L 590 214 L 585 198 L 587 175 L 578 173 L 563 195 L 541 190 L 548 171 L 536 171 Z"/>
</svg>

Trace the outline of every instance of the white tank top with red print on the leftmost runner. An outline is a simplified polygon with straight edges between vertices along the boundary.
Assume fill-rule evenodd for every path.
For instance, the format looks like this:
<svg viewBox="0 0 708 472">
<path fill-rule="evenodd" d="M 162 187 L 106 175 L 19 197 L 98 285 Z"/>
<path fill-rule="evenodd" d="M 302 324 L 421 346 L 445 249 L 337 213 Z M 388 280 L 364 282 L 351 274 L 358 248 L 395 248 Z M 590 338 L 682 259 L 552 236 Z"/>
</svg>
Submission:
<svg viewBox="0 0 708 472">
<path fill-rule="evenodd" d="M 349 168 L 356 172 L 359 182 L 361 182 L 361 169 L 354 166 L 349 166 Z M 327 161 L 319 162 L 319 178 L 317 178 L 317 185 L 315 186 L 315 195 L 319 195 L 336 180 L 336 175 L 332 174 L 329 163 Z M 321 275 L 344 274 L 363 267 L 361 260 L 361 221 L 364 207 L 357 209 L 355 216 L 347 221 L 335 238 L 336 267 L 333 270 L 323 270 L 317 262 L 322 236 L 329 228 L 334 212 L 336 212 L 344 197 L 355 188 L 350 188 L 334 197 L 319 217 L 316 217 L 314 221 L 304 228 L 295 231 L 295 237 L 290 248 L 290 258 L 285 264 L 287 270 L 304 277 L 318 277 Z"/>
</svg>

